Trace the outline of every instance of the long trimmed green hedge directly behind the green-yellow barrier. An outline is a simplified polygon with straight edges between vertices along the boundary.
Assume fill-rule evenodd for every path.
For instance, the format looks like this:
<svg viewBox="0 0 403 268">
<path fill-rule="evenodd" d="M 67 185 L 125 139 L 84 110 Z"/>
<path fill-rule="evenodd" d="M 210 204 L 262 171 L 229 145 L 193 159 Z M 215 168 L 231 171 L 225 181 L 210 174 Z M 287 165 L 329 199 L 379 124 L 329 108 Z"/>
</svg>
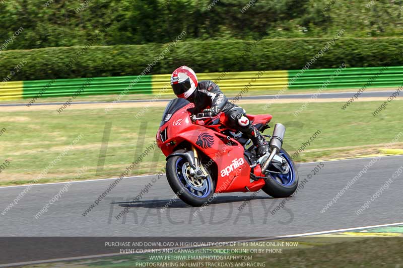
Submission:
<svg viewBox="0 0 403 268">
<path fill-rule="evenodd" d="M 185 41 L 173 44 L 119 45 L 10 50 L 0 53 L 0 77 L 26 63 L 9 80 L 138 75 L 160 55 L 151 74 L 188 65 L 196 72 L 301 69 L 330 39 L 261 41 Z M 341 38 L 311 66 L 337 68 L 403 65 L 403 38 Z M 77 53 L 81 55 L 78 56 Z M 24 62 L 25 62 L 24 61 Z"/>
</svg>

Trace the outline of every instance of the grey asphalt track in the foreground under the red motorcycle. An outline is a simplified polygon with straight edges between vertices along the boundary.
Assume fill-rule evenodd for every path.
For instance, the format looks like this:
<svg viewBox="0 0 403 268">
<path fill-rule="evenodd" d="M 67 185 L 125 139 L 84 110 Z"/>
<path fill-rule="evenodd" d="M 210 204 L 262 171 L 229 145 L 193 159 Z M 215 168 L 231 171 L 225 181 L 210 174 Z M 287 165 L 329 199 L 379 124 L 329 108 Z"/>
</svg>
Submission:
<svg viewBox="0 0 403 268">
<path fill-rule="evenodd" d="M 360 215 L 356 211 L 403 165 L 403 156 L 378 158 L 372 166 L 326 212 L 320 210 L 375 158 L 323 161 L 298 165 L 299 189 L 290 200 L 273 199 L 263 192 L 219 195 L 204 210 L 187 206 L 173 197 L 166 177 L 124 178 L 85 217 L 86 209 L 114 180 L 75 182 L 48 212 L 35 214 L 65 185 L 35 185 L 6 215 L 0 215 L 1 236 L 279 236 L 377 224 L 402 222 L 403 176 L 371 201 Z M 320 165 L 319 165 L 320 166 Z M 315 173 L 315 174 L 314 174 Z M 139 201 L 133 202 L 146 185 L 156 182 Z M 0 188 L 3 211 L 26 186 Z M 145 191 L 143 191 L 145 192 Z M 244 202 L 250 200 L 249 202 Z M 284 208 L 271 211 L 285 202 Z M 243 209 L 241 205 L 244 204 Z M 128 206 L 128 212 L 116 216 Z M 197 212 L 196 212 L 197 211 Z M 194 216 L 194 213 L 196 215 Z M 274 215 L 273 215 L 274 214 Z"/>
</svg>

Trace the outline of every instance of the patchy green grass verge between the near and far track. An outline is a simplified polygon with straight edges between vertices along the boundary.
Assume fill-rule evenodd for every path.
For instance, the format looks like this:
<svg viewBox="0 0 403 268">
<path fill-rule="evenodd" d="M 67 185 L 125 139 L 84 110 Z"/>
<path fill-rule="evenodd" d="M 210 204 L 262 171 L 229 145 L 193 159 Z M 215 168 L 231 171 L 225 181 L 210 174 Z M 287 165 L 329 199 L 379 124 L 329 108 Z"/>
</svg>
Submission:
<svg viewBox="0 0 403 268">
<path fill-rule="evenodd" d="M 377 117 L 371 112 L 379 102 L 356 102 L 346 111 L 341 109 L 340 102 L 310 103 L 298 117 L 293 113 L 301 108 L 301 103 L 273 104 L 268 111 L 262 110 L 263 105 L 243 108 L 250 114 L 271 113 L 272 126 L 283 123 L 287 127 L 284 147 L 290 154 L 300 150 L 296 158 L 299 162 L 377 153 L 378 148 L 402 131 L 401 104 L 391 102 Z M 137 120 L 135 115 L 142 109 L 145 114 Z M 0 185 L 118 176 L 135 159 L 135 154 L 153 143 L 163 110 L 164 107 L 137 106 L 105 113 L 104 109 L 82 105 L 60 114 L 56 110 L 2 113 L 0 130 L 5 131 L 0 132 L 0 165 L 3 163 L 5 168 L 0 172 Z M 137 145 L 142 131 L 143 149 Z M 102 142 L 108 132 L 109 138 Z M 316 137 L 304 146 L 315 133 Z M 79 135 L 80 140 L 71 146 Z M 402 142 L 403 137 L 393 148 L 403 148 Z M 165 166 L 165 157 L 158 148 L 144 159 L 132 175 L 154 174 Z M 43 176 L 36 180 L 41 173 Z"/>
</svg>

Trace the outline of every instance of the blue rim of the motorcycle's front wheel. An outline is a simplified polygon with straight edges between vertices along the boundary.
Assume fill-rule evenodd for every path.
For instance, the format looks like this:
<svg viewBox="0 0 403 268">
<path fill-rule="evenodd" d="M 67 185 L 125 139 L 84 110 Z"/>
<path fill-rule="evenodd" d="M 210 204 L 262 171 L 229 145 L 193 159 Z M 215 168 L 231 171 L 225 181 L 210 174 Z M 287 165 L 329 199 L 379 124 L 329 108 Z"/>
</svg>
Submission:
<svg viewBox="0 0 403 268">
<path fill-rule="evenodd" d="M 195 187 L 192 186 L 191 183 L 189 183 L 189 180 L 191 180 L 191 178 L 183 173 L 183 165 L 186 164 L 188 164 L 188 161 L 183 157 L 179 157 L 175 162 L 175 170 L 178 174 L 180 183 L 186 189 L 187 193 L 191 194 L 192 196 L 195 196 L 197 198 L 208 197 L 211 194 L 213 184 L 210 175 L 203 181 L 205 188 L 203 190 L 196 190 Z M 187 176 L 188 180 L 186 180 L 185 176 Z"/>
</svg>

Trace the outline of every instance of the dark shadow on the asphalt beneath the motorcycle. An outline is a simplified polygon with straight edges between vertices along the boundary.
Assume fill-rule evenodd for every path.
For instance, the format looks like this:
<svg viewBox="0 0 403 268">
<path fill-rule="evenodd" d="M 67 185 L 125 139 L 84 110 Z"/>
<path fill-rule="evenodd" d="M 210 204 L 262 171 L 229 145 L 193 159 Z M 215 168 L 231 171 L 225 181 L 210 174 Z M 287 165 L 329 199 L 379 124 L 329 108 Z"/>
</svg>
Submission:
<svg viewBox="0 0 403 268">
<path fill-rule="evenodd" d="M 240 202 L 239 206 L 241 206 L 241 202 L 252 202 L 253 200 L 260 200 L 260 199 L 273 199 L 270 196 L 221 196 L 216 197 L 209 206 L 216 205 L 216 204 L 226 204 L 226 203 L 236 203 Z M 155 200 L 141 200 L 141 201 L 129 201 L 129 202 L 111 202 L 110 204 L 118 204 L 119 207 L 126 207 L 130 208 L 146 208 L 146 209 L 175 209 L 175 208 L 193 208 L 190 205 L 187 205 L 180 199 L 155 199 Z M 169 204 L 167 206 L 167 204 Z"/>
</svg>

